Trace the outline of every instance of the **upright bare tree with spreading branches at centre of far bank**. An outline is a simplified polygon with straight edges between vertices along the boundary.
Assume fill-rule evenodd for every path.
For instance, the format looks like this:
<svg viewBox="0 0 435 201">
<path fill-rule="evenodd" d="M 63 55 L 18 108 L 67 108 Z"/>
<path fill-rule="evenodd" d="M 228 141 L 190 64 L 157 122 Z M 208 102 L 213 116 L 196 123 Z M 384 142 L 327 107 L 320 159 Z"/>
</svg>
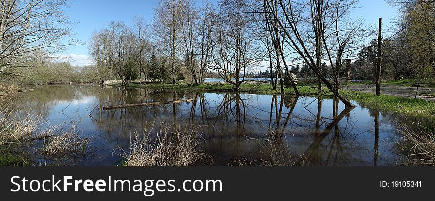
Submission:
<svg viewBox="0 0 435 201">
<path fill-rule="evenodd" d="M 245 0 L 220 1 L 212 45 L 215 70 L 236 90 L 245 82 L 248 68 L 260 59 L 260 45 L 249 29 L 253 19 L 248 9 Z"/>
</svg>

